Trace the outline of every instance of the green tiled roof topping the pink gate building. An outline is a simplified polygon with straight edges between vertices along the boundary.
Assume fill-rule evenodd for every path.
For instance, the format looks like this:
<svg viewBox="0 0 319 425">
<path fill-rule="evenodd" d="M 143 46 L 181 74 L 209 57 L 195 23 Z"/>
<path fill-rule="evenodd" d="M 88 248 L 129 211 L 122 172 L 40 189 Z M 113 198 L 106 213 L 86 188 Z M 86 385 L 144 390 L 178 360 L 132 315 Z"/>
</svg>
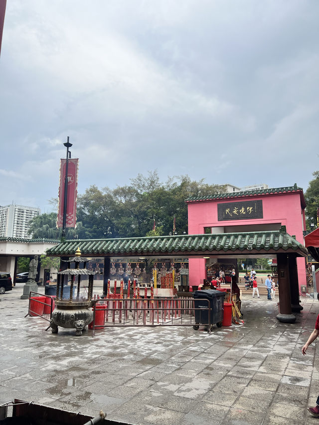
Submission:
<svg viewBox="0 0 319 425">
<path fill-rule="evenodd" d="M 305 198 L 304 198 L 304 192 L 301 187 L 298 187 L 295 183 L 294 186 L 287 186 L 287 187 L 277 187 L 273 189 L 261 189 L 261 190 L 245 190 L 242 192 L 230 192 L 230 193 L 219 193 L 215 195 L 210 196 L 192 196 L 190 198 L 185 199 L 185 202 L 199 202 L 199 201 L 210 201 L 212 199 L 232 199 L 232 198 L 239 198 L 239 197 L 252 197 L 252 196 L 258 196 L 258 195 L 275 195 L 280 193 L 292 193 L 292 192 L 301 192 L 302 196 L 302 205 L 303 207 L 306 206 Z"/>
</svg>

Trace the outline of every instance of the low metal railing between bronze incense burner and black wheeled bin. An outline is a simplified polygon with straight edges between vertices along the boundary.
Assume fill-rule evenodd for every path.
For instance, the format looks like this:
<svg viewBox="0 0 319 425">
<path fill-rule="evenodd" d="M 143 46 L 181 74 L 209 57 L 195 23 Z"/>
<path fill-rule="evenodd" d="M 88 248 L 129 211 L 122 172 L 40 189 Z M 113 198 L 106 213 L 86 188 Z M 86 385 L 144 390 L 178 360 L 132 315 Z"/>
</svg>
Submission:
<svg viewBox="0 0 319 425">
<path fill-rule="evenodd" d="M 210 321 L 210 303 L 205 307 L 195 307 L 192 298 L 120 298 L 99 299 L 93 308 L 92 336 L 96 329 L 110 326 L 194 326 L 208 327 Z M 196 321 L 195 321 L 196 318 Z"/>
</svg>

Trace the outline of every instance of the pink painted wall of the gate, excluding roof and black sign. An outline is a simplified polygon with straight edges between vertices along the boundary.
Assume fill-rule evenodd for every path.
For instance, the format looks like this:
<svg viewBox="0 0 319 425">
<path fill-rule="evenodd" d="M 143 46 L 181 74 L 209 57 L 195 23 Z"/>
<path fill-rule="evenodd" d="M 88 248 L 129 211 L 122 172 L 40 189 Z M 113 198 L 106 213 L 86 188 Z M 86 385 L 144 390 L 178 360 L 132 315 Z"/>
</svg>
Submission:
<svg viewBox="0 0 319 425">
<path fill-rule="evenodd" d="M 263 218 L 248 220 L 217 219 L 217 204 L 245 202 L 251 200 L 263 201 Z M 286 226 L 287 233 L 296 235 L 298 242 L 304 245 L 303 230 L 305 228 L 305 210 L 301 206 L 301 193 L 258 195 L 250 197 L 235 197 L 229 199 L 213 199 L 204 202 L 188 203 L 188 233 L 203 234 L 204 227 L 244 226 L 241 232 L 249 232 L 252 225 L 277 224 Z M 228 229 L 229 230 L 229 229 Z M 235 230 L 238 232 L 239 230 Z M 213 231 L 213 233 L 215 233 Z M 223 230 L 216 232 L 223 233 Z M 229 232 L 227 232 L 229 233 Z M 298 258 L 299 287 L 306 284 L 305 259 Z M 205 260 L 189 259 L 189 284 L 197 285 L 205 279 Z"/>
</svg>

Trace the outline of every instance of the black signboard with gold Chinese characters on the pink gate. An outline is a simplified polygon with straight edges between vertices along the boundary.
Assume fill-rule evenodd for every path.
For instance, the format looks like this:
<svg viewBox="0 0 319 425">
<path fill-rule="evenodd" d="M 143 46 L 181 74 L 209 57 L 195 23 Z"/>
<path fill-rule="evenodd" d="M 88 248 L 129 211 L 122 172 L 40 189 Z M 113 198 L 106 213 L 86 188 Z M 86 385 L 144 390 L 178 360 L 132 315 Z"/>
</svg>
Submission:
<svg viewBox="0 0 319 425">
<path fill-rule="evenodd" d="M 263 218 L 263 201 L 217 204 L 218 221 Z"/>
</svg>

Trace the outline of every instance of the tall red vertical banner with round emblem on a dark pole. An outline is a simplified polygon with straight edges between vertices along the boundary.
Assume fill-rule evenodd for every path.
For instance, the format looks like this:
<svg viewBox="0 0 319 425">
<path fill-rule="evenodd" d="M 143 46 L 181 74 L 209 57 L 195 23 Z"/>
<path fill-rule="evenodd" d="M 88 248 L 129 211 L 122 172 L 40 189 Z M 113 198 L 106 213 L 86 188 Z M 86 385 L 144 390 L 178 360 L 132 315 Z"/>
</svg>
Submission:
<svg viewBox="0 0 319 425">
<path fill-rule="evenodd" d="M 63 227 L 65 168 L 66 168 L 66 159 L 61 159 L 57 227 Z M 77 185 L 78 185 L 78 158 L 68 159 L 68 192 L 67 192 L 67 202 L 66 202 L 66 227 L 75 227 L 76 225 Z"/>
</svg>

